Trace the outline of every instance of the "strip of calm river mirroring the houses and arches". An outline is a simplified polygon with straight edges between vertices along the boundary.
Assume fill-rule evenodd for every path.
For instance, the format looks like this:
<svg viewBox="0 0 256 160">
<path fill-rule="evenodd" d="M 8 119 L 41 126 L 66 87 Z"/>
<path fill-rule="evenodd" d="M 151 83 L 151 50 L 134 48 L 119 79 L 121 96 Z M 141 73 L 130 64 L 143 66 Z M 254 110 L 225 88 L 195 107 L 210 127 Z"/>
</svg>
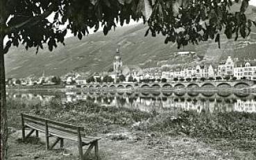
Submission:
<svg viewBox="0 0 256 160">
<path fill-rule="evenodd" d="M 244 93 L 108 93 L 108 92 L 65 92 L 58 94 L 8 93 L 8 98 L 27 103 L 49 103 L 53 98 L 62 103 L 76 103 L 79 100 L 90 100 L 100 105 L 127 107 L 146 112 L 182 109 L 197 112 L 256 112 L 255 94 Z"/>
</svg>

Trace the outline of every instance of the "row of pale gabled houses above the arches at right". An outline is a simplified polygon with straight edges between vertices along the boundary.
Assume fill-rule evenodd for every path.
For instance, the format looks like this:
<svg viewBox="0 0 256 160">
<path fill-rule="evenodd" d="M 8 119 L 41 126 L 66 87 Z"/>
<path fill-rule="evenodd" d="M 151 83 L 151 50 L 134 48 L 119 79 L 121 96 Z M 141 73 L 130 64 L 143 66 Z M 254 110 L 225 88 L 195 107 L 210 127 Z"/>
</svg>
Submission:
<svg viewBox="0 0 256 160">
<path fill-rule="evenodd" d="M 196 66 L 178 66 L 169 71 L 162 71 L 162 78 L 215 78 L 220 76 L 236 77 L 238 80 L 246 78 L 256 80 L 256 60 L 238 60 L 228 58 L 214 68 L 212 64 L 198 64 Z"/>
</svg>

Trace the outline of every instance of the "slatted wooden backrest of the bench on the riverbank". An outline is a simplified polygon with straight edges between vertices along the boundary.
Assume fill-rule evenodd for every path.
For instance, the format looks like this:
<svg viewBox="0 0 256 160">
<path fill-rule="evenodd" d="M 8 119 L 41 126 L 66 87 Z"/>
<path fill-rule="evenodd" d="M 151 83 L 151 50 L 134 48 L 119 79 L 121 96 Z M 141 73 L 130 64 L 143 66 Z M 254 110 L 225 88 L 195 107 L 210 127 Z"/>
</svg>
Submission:
<svg viewBox="0 0 256 160">
<path fill-rule="evenodd" d="M 69 125 L 67 123 L 60 123 L 57 121 L 50 120 L 48 118 L 41 118 L 39 116 L 32 116 L 29 114 L 21 114 L 22 116 L 22 125 L 24 123 L 34 123 L 36 125 L 41 125 L 48 130 L 51 128 L 53 130 L 57 130 L 60 132 L 67 132 L 69 134 L 80 134 L 80 131 L 84 131 L 84 127 L 76 126 L 76 125 Z M 48 131 L 47 131 L 48 132 Z"/>
</svg>

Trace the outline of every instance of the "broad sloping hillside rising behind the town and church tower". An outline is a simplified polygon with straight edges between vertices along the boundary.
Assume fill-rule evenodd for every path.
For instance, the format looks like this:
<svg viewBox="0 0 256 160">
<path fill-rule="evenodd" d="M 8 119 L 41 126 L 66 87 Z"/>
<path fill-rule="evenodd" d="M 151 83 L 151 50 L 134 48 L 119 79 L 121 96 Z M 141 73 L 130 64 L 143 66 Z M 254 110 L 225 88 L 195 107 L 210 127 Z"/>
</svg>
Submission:
<svg viewBox="0 0 256 160">
<path fill-rule="evenodd" d="M 256 12 L 248 10 L 250 17 Z M 8 78 L 25 78 L 46 75 L 63 75 L 69 71 L 108 71 L 117 48 L 121 45 L 123 64 L 137 64 L 142 67 L 160 66 L 162 64 L 184 64 L 185 62 L 219 62 L 222 58 L 232 57 L 256 58 L 256 28 L 248 39 L 221 38 L 221 49 L 214 41 L 203 42 L 198 46 L 189 45 L 180 50 L 176 44 L 164 44 L 164 37 L 144 37 L 147 26 L 137 24 L 117 28 L 107 36 L 94 33 L 79 40 L 77 37 L 65 39 L 66 46 L 59 44 L 53 52 L 35 49 L 26 51 L 24 46 L 14 48 L 6 55 L 6 74 Z M 195 51 L 200 58 L 175 57 L 176 51 Z"/>
</svg>

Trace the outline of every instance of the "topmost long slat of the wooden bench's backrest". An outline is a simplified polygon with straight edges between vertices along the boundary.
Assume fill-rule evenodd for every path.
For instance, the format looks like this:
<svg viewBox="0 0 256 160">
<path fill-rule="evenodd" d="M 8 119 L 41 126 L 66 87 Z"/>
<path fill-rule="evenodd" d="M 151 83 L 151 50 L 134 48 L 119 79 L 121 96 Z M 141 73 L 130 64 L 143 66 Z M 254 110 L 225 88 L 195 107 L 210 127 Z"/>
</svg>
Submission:
<svg viewBox="0 0 256 160">
<path fill-rule="evenodd" d="M 53 120 L 50 120 L 48 118 L 40 118 L 38 116 L 31 116 L 31 115 L 28 115 L 28 114 L 22 114 L 24 117 L 28 117 L 28 118 L 32 118 L 32 119 L 35 119 L 37 121 L 47 121 L 48 123 L 51 123 L 53 125 L 60 125 L 62 127 L 67 127 L 67 128 L 70 128 L 70 129 L 73 129 L 73 130 L 78 130 L 78 127 L 80 127 L 80 130 L 83 131 L 84 128 L 81 127 L 81 126 L 76 126 L 76 125 L 68 125 L 66 123 L 60 123 L 60 122 L 57 122 L 57 121 L 53 121 Z"/>
</svg>

